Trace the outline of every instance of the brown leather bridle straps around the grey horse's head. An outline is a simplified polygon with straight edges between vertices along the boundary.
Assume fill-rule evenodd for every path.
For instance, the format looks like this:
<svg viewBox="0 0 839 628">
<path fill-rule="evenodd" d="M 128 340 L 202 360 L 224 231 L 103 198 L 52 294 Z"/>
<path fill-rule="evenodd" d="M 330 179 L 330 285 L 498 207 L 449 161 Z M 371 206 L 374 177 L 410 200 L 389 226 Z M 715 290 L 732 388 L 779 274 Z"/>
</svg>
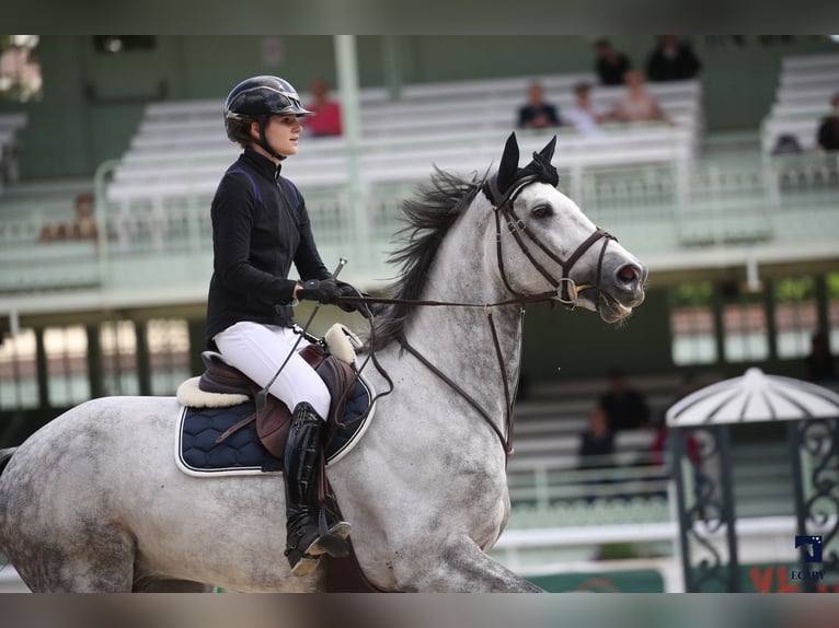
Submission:
<svg viewBox="0 0 839 628">
<path fill-rule="evenodd" d="M 513 209 L 513 205 L 516 202 L 518 195 L 521 194 L 521 190 L 524 190 L 525 187 L 531 183 L 536 183 L 538 181 L 538 175 L 526 175 L 510 185 L 507 191 L 504 194 L 502 194 L 498 189 L 497 181 L 494 176 L 483 185 L 483 193 L 492 203 L 493 211 L 495 212 L 495 246 L 498 258 L 498 269 L 501 270 L 502 280 L 504 281 L 504 286 L 507 288 L 507 290 L 509 290 L 516 296 L 519 296 L 522 301 L 531 301 L 535 298 L 552 298 L 565 305 L 565 307 L 573 310 L 576 307 L 578 295 L 583 290 L 594 288 L 598 293 L 600 292 L 600 274 L 602 270 L 604 256 L 606 255 L 606 247 L 609 245 L 610 240 L 614 240 L 617 242 L 618 239 L 607 231 L 597 228 L 594 233 L 591 233 L 591 235 L 589 235 L 579 246 L 577 246 L 576 251 L 574 251 L 574 253 L 572 253 L 567 259 L 562 259 L 559 255 L 551 251 L 536 233 L 532 233 L 532 231 L 527 229 L 527 224 L 525 224 L 525 222 L 519 219 L 518 216 L 516 216 L 516 211 Z M 526 295 L 510 286 L 507 279 L 506 269 L 504 267 L 504 255 L 502 253 L 502 216 L 507 224 L 507 229 L 513 235 L 513 239 L 521 249 L 521 253 L 524 253 L 525 256 L 530 260 L 530 264 L 533 265 L 533 268 L 536 268 L 539 274 L 544 277 L 544 279 L 553 287 L 552 291 L 537 295 Z M 544 253 L 554 263 L 556 263 L 560 268 L 562 268 L 561 278 L 556 279 L 553 274 L 551 274 L 542 264 L 540 264 L 540 261 L 533 256 L 532 252 L 528 247 L 527 242 L 525 242 L 522 234 L 526 235 L 532 244 L 538 246 L 542 253 Z M 571 269 L 579 260 L 583 254 L 588 251 L 598 240 L 601 239 L 604 242 L 600 248 L 600 256 L 597 261 L 597 277 L 595 283 L 577 286 L 577 283 L 570 277 Z M 597 307 L 596 299 L 595 307 Z"/>
</svg>

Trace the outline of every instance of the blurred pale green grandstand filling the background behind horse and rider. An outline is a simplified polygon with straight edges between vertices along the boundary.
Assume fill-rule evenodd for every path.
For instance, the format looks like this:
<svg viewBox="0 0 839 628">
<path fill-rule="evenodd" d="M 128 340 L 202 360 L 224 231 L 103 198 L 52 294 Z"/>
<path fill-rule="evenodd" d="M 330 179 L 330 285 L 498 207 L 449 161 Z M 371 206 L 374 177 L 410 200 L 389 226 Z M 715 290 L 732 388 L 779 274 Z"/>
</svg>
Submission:
<svg viewBox="0 0 839 628">
<path fill-rule="evenodd" d="M 483 174 L 497 162 L 533 78 L 562 111 L 576 83 L 596 83 L 579 71 L 586 67 L 409 81 L 396 101 L 375 81 L 363 86 L 358 146 L 309 138 L 284 165 L 307 198 L 324 258 L 349 257 L 347 279 L 380 290 L 392 274 L 384 260 L 401 199 L 435 165 Z M 706 65 L 705 72 L 713 71 L 724 69 Z M 651 291 L 619 333 L 585 314 L 528 312 L 530 385 L 516 405 L 513 512 L 498 558 L 536 574 L 581 561 L 590 567 L 605 546 L 629 544 L 633 560 L 652 560 L 645 565 L 678 590 L 674 499 L 648 460 L 652 432 L 621 434 L 618 464 L 595 472 L 579 468 L 579 433 L 614 363 L 632 364 L 632 382 L 659 417 L 688 371 L 698 370 L 703 383 L 752 363 L 804 376 L 802 358 L 817 325 L 839 349 L 839 298 L 830 289 L 839 271 L 839 160 L 813 149 L 837 78 L 839 55 L 785 56 L 766 116 L 734 131 L 710 128 L 708 101 L 719 91 L 706 74 L 648 85 L 675 126 L 607 125 L 593 138 L 555 130 L 561 189 L 648 263 Z M 621 88 L 591 93 L 606 108 L 621 95 Z M 171 394 L 199 368 L 211 265 L 207 207 L 238 153 L 221 130 L 220 107 L 206 93 L 148 98 L 134 107 L 129 137 L 107 155 L 114 159 L 100 160 L 90 176 L 49 181 L 20 177 L 20 152 L 46 143 L 20 143 L 35 114 L 0 115 L 0 319 L 26 338 L 0 345 L 0 446 L 90 396 Z M 519 131 L 522 155 L 553 132 Z M 771 155 L 782 135 L 795 136 L 803 152 Z M 43 226 L 70 221 L 72 199 L 90 190 L 103 241 L 38 243 Z M 809 291 L 782 303 L 777 287 L 802 276 L 812 278 Z M 677 318 L 674 293 L 702 282 L 713 284 L 711 295 L 689 304 L 693 310 L 685 305 Z M 761 318 L 755 307 L 763 306 Z M 694 310 L 704 313 L 708 332 Z M 789 315 L 781 319 L 779 312 Z M 50 330 L 57 348 L 47 349 Z M 560 357 L 545 347 L 561 348 Z M 101 361 L 91 358 L 96 348 Z M 154 377 L 141 372 L 143 363 L 158 367 Z M 94 382 L 96 373 L 104 383 Z M 734 443 L 737 512 L 754 560 L 794 560 L 785 546 L 778 549 L 794 530 L 792 472 L 778 462 L 786 458 L 785 447 L 777 434 Z M 593 481 L 602 479 L 610 484 L 597 485 L 591 500 Z"/>
</svg>

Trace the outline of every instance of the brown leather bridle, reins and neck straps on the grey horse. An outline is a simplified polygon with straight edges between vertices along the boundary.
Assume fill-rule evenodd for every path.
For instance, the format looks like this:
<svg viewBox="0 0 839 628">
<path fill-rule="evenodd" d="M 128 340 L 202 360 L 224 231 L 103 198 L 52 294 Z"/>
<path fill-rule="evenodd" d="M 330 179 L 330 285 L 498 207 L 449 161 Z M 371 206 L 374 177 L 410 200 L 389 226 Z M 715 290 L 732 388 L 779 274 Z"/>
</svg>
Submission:
<svg viewBox="0 0 839 628">
<path fill-rule="evenodd" d="M 425 365 L 432 373 L 434 373 L 437 377 L 439 377 L 443 382 L 445 382 L 449 387 L 451 387 L 456 393 L 458 393 L 472 408 L 481 416 L 481 418 L 490 426 L 490 428 L 495 432 L 495 435 L 501 441 L 502 447 L 504 449 L 504 453 L 507 457 L 512 456 L 514 453 L 513 449 L 513 403 L 515 399 L 515 389 L 510 388 L 509 379 L 507 377 L 507 370 L 506 370 L 506 363 L 504 360 L 504 353 L 502 351 L 501 347 L 501 339 L 498 338 L 498 333 L 495 327 L 495 321 L 493 319 L 493 309 L 498 306 L 505 306 L 505 305 L 518 305 L 520 309 L 520 317 L 519 317 L 519 354 L 521 351 L 521 342 L 524 340 L 524 318 L 525 318 L 525 310 L 526 305 L 528 303 L 538 303 L 543 301 L 560 301 L 564 306 L 568 309 L 574 309 L 577 303 L 577 299 L 579 295 L 579 292 L 583 290 L 594 289 L 600 292 L 600 276 L 601 276 L 601 268 L 602 268 L 602 261 L 604 256 L 606 255 L 606 248 L 609 244 L 609 241 L 616 240 L 614 236 L 607 233 L 602 229 L 596 229 L 594 233 L 591 233 L 577 248 L 574 251 L 574 253 L 568 257 L 566 260 L 563 260 L 561 257 L 559 257 L 556 254 L 554 254 L 550 248 L 548 248 L 544 243 L 542 243 L 536 234 L 527 231 L 527 225 L 516 216 L 513 203 L 515 202 L 518 195 L 521 193 L 521 190 L 529 184 L 535 183 L 539 181 L 539 177 L 537 175 L 528 175 L 525 177 L 521 177 L 515 185 L 512 185 L 509 189 L 506 191 L 506 194 L 501 194 L 497 189 L 497 182 L 496 178 L 493 177 L 489 179 L 484 186 L 483 191 L 486 195 L 486 197 L 490 199 L 490 202 L 493 206 L 493 211 L 495 213 L 495 241 L 496 241 L 496 256 L 497 256 L 497 263 L 498 263 L 498 269 L 501 270 L 502 280 L 504 281 L 505 288 L 515 295 L 514 299 L 507 299 L 504 301 L 497 301 L 495 303 L 487 303 L 487 304 L 478 304 L 478 303 L 463 303 L 463 302 L 452 302 L 452 301 L 432 301 L 432 300 L 413 300 L 413 299 L 390 299 L 390 298 L 375 298 L 367 294 L 360 294 L 358 296 L 349 296 L 349 295 L 342 295 L 338 298 L 338 301 L 346 302 L 346 303 L 355 303 L 363 305 L 363 312 L 361 314 L 368 318 L 371 325 L 371 329 L 375 329 L 373 325 L 373 314 L 370 310 L 370 304 L 380 304 L 380 305 L 412 305 L 412 306 L 430 306 L 430 307 L 482 307 L 484 310 L 484 314 L 486 315 L 486 319 L 490 324 L 490 330 L 492 333 L 493 338 L 493 345 L 495 347 L 495 356 L 498 360 L 498 368 L 501 370 L 502 374 L 502 381 L 504 383 L 504 399 L 505 399 L 505 420 L 504 420 L 504 431 L 496 425 L 496 422 L 493 420 L 490 412 L 486 411 L 485 408 L 481 406 L 481 404 L 475 400 L 472 395 L 470 395 L 467 391 L 463 389 L 462 386 L 460 386 L 457 382 L 455 382 L 451 377 L 446 375 L 440 369 L 435 367 L 427 358 L 425 358 L 417 349 L 415 349 L 405 338 L 402 338 L 399 340 L 400 345 L 404 350 L 406 350 L 409 353 L 411 353 L 414 358 L 416 358 L 423 365 Z M 518 244 L 521 252 L 525 254 L 525 256 L 530 260 L 532 266 L 539 271 L 542 277 L 544 277 L 548 282 L 553 287 L 553 290 L 549 290 L 547 292 L 541 292 L 538 294 L 522 294 L 521 292 L 515 290 L 507 280 L 507 274 L 504 267 L 504 256 L 502 252 L 502 214 L 504 216 L 504 219 L 506 220 L 507 229 L 509 230 L 510 234 L 513 235 L 514 240 Z M 562 268 L 562 277 L 560 279 L 556 279 L 551 272 L 549 272 L 536 257 L 532 255 L 531 251 L 529 249 L 527 242 L 521 236 L 521 233 L 526 234 L 528 240 L 535 244 L 537 247 L 539 247 L 548 257 L 551 258 L 556 265 Z M 574 264 L 579 260 L 579 258 L 585 254 L 586 251 L 588 251 L 597 241 L 602 240 L 602 246 L 600 248 L 600 254 L 598 257 L 597 263 L 597 277 L 594 284 L 583 284 L 577 286 L 576 282 L 570 277 L 570 272 Z M 597 300 L 595 300 L 595 306 L 597 306 Z M 372 332 L 371 332 L 372 334 Z M 375 359 L 375 339 L 370 338 L 370 356 L 368 359 L 372 358 L 373 363 L 376 365 L 376 369 L 379 371 L 380 374 L 384 375 L 387 377 L 387 373 L 383 371 L 381 365 L 378 363 L 378 361 Z M 390 391 L 384 394 L 389 394 L 393 389 L 393 384 L 390 380 L 390 377 L 387 377 L 389 384 L 390 384 Z M 506 433 L 505 433 L 506 432 Z"/>
</svg>

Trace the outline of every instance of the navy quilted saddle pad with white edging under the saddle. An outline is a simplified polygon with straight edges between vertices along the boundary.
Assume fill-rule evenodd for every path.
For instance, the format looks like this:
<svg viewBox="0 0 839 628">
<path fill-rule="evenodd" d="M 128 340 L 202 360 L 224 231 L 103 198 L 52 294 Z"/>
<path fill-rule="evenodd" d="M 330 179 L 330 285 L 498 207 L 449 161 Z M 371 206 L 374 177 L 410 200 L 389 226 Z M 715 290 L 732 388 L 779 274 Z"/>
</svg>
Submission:
<svg viewBox="0 0 839 628">
<path fill-rule="evenodd" d="M 326 462 L 335 462 L 348 452 L 364 433 L 372 416 L 363 416 L 372 398 L 369 386 L 356 380 L 353 396 L 347 399 L 342 427 L 326 450 Z M 281 461 L 272 456 L 256 437 L 256 421 L 230 434 L 223 442 L 216 439 L 228 428 L 252 415 L 252 400 L 229 408 L 183 408 L 177 434 L 177 463 L 191 475 L 232 475 L 281 472 Z"/>
</svg>

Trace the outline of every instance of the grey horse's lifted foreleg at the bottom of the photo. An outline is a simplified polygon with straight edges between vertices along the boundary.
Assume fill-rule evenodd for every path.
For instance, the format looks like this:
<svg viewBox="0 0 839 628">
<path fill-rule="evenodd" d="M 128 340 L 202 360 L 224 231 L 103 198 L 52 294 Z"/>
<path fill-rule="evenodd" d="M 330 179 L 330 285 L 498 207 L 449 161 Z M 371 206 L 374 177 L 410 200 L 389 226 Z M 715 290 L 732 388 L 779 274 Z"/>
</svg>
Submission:
<svg viewBox="0 0 839 628">
<path fill-rule="evenodd" d="M 484 554 L 468 538 L 448 539 L 436 550 L 396 553 L 394 573 L 399 589 L 422 592 L 540 593 L 537 585 L 516 575 Z"/>
</svg>

